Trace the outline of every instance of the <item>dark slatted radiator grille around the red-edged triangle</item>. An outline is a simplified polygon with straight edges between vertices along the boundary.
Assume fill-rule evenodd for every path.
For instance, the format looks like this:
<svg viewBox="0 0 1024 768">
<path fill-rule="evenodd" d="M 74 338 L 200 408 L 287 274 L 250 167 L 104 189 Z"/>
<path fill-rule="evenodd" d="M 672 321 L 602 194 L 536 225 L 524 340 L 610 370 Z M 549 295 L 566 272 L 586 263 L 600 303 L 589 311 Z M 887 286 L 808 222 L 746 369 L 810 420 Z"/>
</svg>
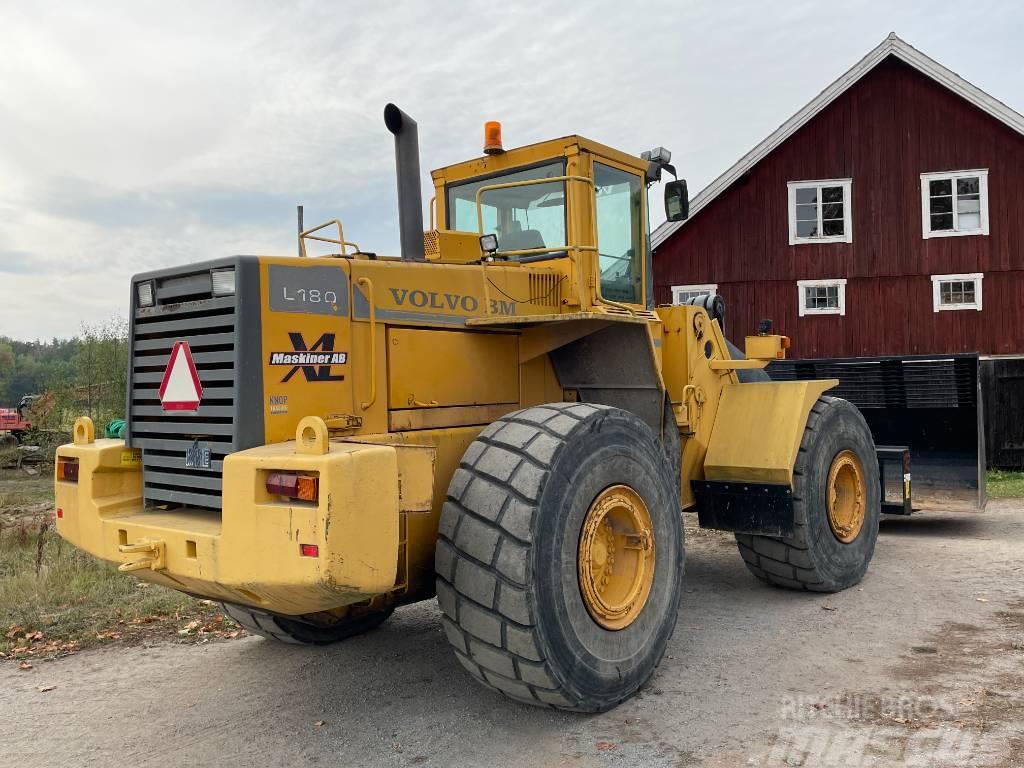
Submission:
<svg viewBox="0 0 1024 768">
<path fill-rule="evenodd" d="M 132 446 L 142 449 L 143 496 L 150 504 L 220 509 L 223 459 L 238 449 L 236 297 L 213 297 L 208 271 L 206 278 L 206 287 L 200 281 L 198 288 L 195 275 L 158 281 L 158 302 L 174 303 L 135 309 L 129 432 Z M 188 300 L 178 300 L 182 296 Z M 188 343 L 203 386 L 196 413 L 164 412 L 160 404 L 160 382 L 176 341 Z M 210 469 L 185 468 L 185 451 L 195 440 L 210 447 Z"/>
</svg>

